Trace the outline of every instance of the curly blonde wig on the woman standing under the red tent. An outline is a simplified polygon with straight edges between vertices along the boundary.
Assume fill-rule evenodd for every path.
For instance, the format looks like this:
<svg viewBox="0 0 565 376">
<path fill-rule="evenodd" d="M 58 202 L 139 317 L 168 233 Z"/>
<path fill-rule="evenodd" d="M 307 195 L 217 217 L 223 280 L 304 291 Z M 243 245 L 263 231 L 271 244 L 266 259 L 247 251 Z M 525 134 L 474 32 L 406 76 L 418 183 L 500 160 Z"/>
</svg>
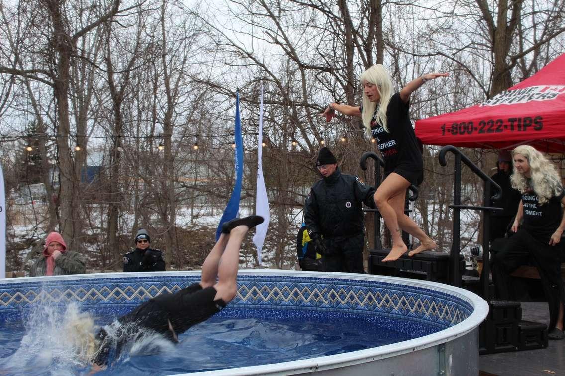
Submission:
<svg viewBox="0 0 565 376">
<path fill-rule="evenodd" d="M 524 174 L 519 173 L 516 167 L 514 167 L 514 173 L 512 173 L 510 178 L 513 188 L 519 190 L 520 193 L 527 193 L 528 190 L 533 190 L 538 196 L 540 204 L 548 202 L 551 197 L 557 196 L 563 191 L 557 169 L 543 154 L 529 145 L 515 147 L 512 150 L 512 160 L 516 154 L 520 154 L 528 160 L 531 185 L 528 184 L 528 179 Z"/>
</svg>

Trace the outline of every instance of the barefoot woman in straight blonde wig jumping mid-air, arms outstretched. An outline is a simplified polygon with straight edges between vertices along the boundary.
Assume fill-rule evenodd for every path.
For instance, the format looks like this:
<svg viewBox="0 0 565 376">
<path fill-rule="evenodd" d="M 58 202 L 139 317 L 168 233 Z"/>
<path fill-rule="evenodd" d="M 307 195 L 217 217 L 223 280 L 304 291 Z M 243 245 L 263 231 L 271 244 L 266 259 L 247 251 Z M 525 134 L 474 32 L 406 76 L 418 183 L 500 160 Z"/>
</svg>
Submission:
<svg viewBox="0 0 565 376">
<path fill-rule="evenodd" d="M 433 250 L 436 243 L 404 213 L 406 190 L 423 180 L 423 161 L 410 123 L 410 94 L 429 80 L 449 73 L 427 73 L 409 82 L 399 93 L 393 92 L 392 79 L 383 64 L 366 69 L 360 77 L 363 104 L 360 107 L 331 103 L 322 115 L 331 118 L 334 111 L 363 120 L 367 133 L 374 137 L 385 161 L 385 180 L 373 198 L 392 234 L 393 247 L 383 261 L 394 261 L 407 250 L 401 230 L 417 238 L 420 246 L 408 255 Z"/>
</svg>

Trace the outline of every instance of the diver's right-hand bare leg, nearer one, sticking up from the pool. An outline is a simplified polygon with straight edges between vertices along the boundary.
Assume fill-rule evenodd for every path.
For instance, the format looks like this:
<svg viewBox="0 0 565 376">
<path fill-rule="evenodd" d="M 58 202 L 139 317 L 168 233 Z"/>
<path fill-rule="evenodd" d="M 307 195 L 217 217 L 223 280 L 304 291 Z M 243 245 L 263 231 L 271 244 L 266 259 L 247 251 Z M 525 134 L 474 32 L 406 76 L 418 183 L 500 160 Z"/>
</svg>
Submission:
<svg viewBox="0 0 565 376">
<path fill-rule="evenodd" d="M 214 300 L 222 299 L 227 304 L 236 296 L 240 248 L 247 230 L 249 227 L 241 225 L 232 229 L 229 234 L 228 244 L 220 259 L 218 283 L 214 285 L 217 291 Z"/>
</svg>

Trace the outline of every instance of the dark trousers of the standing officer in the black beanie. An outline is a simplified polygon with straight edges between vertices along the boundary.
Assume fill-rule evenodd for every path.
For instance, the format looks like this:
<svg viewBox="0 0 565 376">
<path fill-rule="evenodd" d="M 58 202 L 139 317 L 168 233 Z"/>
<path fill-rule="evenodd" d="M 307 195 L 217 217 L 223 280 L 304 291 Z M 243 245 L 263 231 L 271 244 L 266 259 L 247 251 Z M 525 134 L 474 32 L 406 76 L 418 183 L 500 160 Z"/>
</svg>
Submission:
<svg viewBox="0 0 565 376">
<path fill-rule="evenodd" d="M 324 237 L 326 252 L 321 256 L 324 272 L 364 273 L 363 233 L 351 238 Z"/>
</svg>

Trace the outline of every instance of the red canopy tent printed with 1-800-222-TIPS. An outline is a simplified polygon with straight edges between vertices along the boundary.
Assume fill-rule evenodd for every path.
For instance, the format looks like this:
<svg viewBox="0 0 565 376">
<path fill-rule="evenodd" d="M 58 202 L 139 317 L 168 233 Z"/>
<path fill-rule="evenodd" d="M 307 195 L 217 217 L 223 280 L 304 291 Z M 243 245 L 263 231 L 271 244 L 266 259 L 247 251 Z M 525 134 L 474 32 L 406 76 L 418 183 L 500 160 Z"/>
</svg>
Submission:
<svg viewBox="0 0 565 376">
<path fill-rule="evenodd" d="M 424 144 L 565 152 L 565 54 L 477 106 L 416 121 Z"/>
</svg>

